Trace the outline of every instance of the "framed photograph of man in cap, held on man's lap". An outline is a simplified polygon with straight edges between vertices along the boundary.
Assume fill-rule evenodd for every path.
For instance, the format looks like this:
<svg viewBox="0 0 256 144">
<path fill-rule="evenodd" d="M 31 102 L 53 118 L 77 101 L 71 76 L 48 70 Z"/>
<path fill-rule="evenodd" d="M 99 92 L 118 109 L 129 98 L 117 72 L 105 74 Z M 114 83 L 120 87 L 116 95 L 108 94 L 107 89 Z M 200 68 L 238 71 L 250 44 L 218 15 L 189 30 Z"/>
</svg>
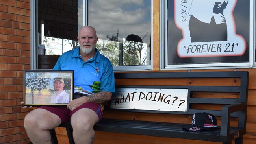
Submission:
<svg viewBox="0 0 256 144">
<path fill-rule="evenodd" d="M 65 106 L 73 99 L 73 70 L 24 70 L 26 106 Z"/>
</svg>

